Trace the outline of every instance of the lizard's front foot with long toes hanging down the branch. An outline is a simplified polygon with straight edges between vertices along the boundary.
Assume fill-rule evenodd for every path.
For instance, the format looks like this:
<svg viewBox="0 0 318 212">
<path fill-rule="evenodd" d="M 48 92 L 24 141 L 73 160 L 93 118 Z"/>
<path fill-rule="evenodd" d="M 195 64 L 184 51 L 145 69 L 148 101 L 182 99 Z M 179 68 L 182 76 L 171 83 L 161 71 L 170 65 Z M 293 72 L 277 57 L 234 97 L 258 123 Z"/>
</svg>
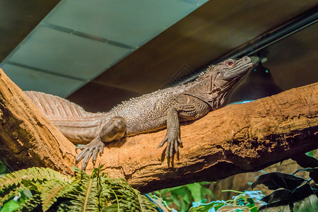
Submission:
<svg viewBox="0 0 318 212">
<path fill-rule="evenodd" d="M 170 165 L 170 159 L 173 161 L 173 156 L 179 154 L 179 146 L 182 147 L 182 141 L 179 136 L 165 136 L 165 139 L 161 141 L 158 148 L 162 147 L 167 142 L 167 149 L 165 156 L 167 158 L 167 165 Z M 172 163 L 172 162 L 171 162 Z M 172 165 L 172 164 L 171 164 Z"/>
</svg>

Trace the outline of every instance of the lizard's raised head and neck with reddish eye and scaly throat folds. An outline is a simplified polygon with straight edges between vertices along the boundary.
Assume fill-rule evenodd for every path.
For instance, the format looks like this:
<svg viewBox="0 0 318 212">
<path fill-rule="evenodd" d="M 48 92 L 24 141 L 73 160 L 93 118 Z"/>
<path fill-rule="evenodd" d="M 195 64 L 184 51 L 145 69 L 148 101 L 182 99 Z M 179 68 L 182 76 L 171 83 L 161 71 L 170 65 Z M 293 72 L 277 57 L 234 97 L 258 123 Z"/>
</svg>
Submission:
<svg viewBox="0 0 318 212">
<path fill-rule="evenodd" d="M 249 57 L 228 59 L 216 66 L 209 66 L 206 72 L 201 73 L 192 83 L 187 94 L 207 102 L 215 110 L 223 105 L 228 92 L 252 67 Z"/>
</svg>

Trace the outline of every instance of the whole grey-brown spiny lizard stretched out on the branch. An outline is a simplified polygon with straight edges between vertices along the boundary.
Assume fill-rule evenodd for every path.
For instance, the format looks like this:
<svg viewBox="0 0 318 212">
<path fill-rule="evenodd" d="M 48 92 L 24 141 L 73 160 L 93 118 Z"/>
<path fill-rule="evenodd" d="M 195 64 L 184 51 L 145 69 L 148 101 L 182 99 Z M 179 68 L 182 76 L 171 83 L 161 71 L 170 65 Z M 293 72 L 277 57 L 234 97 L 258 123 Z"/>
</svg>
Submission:
<svg viewBox="0 0 318 212">
<path fill-rule="evenodd" d="M 131 98 L 110 112 L 86 112 L 69 100 L 37 91 L 25 94 L 67 139 L 84 144 L 76 146 L 81 149 L 76 163 L 83 160 L 83 170 L 90 158 L 95 164 L 105 143 L 165 127 L 167 132 L 158 148 L 167 143 L 165 157 L 169 166 L 182 147 L 179 122 L 199 119 L 222 107 L 230 90 L 252 66 L 249 57 L 228 59 L 208 66 L 195 81 Z"/>
</svg>

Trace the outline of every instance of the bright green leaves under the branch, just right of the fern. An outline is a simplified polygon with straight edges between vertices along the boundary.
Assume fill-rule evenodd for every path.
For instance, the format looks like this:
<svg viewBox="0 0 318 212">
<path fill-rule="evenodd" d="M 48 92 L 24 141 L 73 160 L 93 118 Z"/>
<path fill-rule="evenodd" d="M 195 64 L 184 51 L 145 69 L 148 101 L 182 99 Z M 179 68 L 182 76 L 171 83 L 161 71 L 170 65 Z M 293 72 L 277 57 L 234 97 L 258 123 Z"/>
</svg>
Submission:
<svg viewBox="0 0 318 212">
<path fill-rule="evenodd" d="M 170 189 L 162 189 L 150 193 L 152 198 L 160 199 L 160 201 L 165 204 L 165 206 L 170 204 L 175 204 L 179 211 L 188 211 L 192 206 L 192 201 L 201 202 L 206 201 L 206 196 L 214 197 L 211 190 L 204 187 L 205 184 L 210 184 L 210 182 L 196 182 L 193 184 L 186 184 L 179 187 L 173 187 Z M 158 197 L 155 197 L 155 195 Z M 167 208 L 169 208 L 167 206 Z M 170 208 L 170 211 L 172 209 Z"/>
</svg>

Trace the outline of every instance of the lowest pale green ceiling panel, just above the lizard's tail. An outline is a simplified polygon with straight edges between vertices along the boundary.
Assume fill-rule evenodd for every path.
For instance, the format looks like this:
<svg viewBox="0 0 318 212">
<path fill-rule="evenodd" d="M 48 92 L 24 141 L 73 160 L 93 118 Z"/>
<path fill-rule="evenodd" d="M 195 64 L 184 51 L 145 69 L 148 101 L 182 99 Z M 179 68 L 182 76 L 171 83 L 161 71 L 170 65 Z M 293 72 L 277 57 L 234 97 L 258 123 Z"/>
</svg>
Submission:
<svg viewBox="0 0 318 212">
<path fill-rule="evenodd" d="M 1 68 L 22 90 L 37 90 L 45 93 L 54 93 L 59 96 L 67 96 L 85 83 L 76 79 L 8 63 L 4 64 Z"/>
</svg>

